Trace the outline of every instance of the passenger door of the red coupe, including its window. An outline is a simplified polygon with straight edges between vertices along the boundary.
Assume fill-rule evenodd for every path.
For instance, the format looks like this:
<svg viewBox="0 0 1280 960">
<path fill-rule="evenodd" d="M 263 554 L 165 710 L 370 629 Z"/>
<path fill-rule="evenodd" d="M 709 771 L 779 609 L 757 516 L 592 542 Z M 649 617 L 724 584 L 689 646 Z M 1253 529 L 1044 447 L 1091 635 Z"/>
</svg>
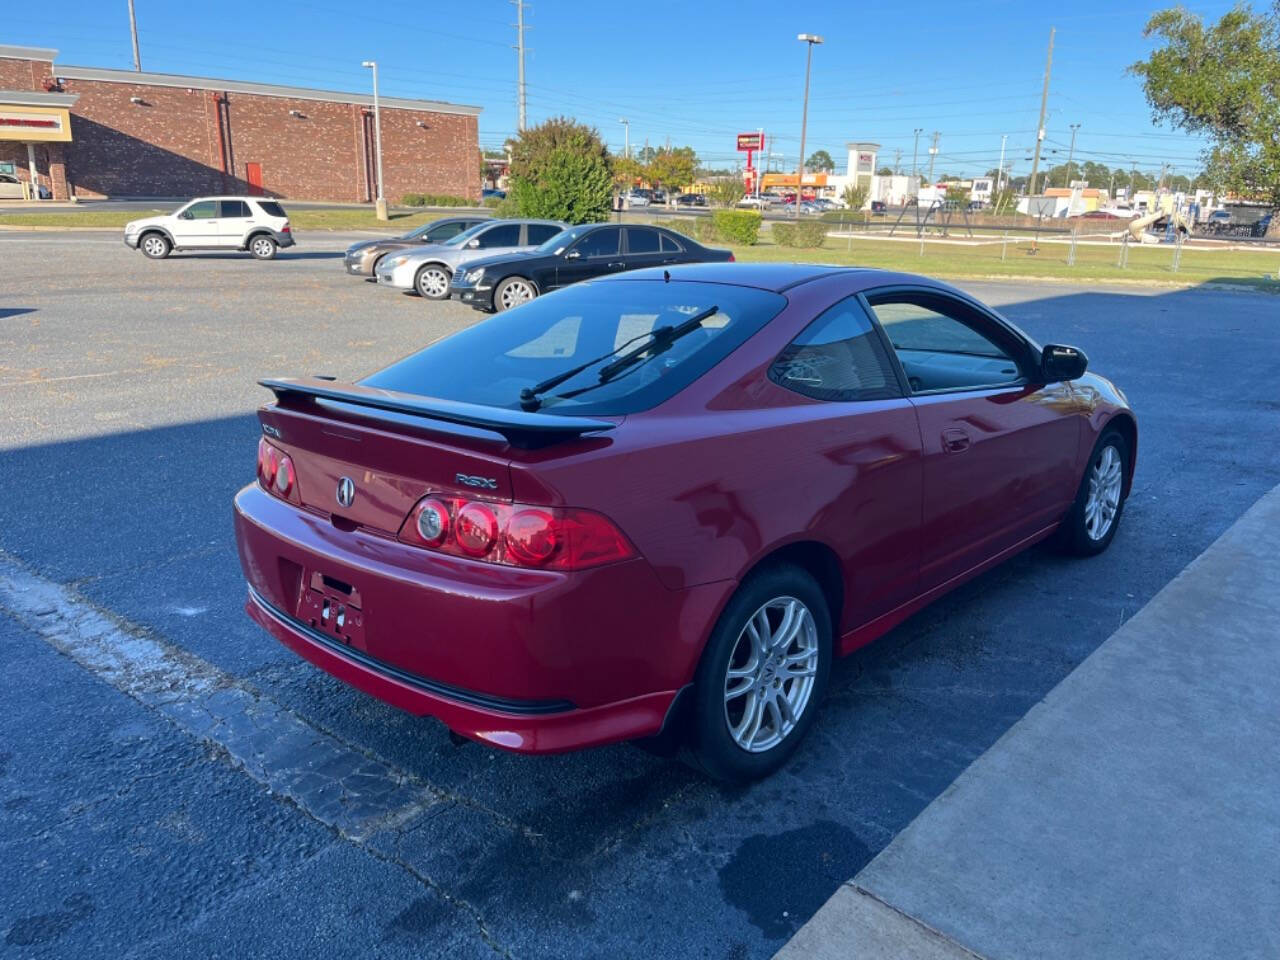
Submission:
<svg viewBox="0 0 1280 960">
<path fill-rule="evenodd" d="M 920 424 L 920 586 L 1023 544 L 1066 512 L 1082 426 L 1070 384 L 977 303 L 932 288 L 870 291 Z"/>
</svg>

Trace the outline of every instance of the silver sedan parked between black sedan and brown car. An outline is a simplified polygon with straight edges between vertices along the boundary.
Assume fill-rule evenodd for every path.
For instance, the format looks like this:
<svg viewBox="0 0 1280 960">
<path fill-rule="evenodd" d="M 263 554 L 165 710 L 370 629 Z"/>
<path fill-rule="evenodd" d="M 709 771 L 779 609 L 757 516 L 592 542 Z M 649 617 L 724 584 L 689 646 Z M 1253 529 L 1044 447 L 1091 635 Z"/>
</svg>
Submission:
<svg viewBox="0 0 1280 960">
<path fill-rule="evenodd" d="M 564 229 L 558 220 L 488 220 L 444 243 L 383 257 L 379 285 L 416 291 L 428 300 L 447 300 L 453 271 L 474 260 L 532 250 Z"/>
</svg>

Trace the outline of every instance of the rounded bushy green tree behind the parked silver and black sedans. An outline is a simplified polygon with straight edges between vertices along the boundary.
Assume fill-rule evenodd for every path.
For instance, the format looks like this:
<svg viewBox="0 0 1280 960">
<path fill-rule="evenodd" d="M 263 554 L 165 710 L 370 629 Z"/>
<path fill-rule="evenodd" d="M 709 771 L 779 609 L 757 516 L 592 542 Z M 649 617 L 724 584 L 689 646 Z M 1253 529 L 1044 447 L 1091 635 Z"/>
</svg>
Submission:
<svg viewBox="0 0 1280 960">
<path fill-rule="evenodd" d="M 612 157 L 594 127 L 556 116 L 521 131 L 511 148 L 511 192 L 521 216 L 566 223 L 607 220 Z"/>
</svg>

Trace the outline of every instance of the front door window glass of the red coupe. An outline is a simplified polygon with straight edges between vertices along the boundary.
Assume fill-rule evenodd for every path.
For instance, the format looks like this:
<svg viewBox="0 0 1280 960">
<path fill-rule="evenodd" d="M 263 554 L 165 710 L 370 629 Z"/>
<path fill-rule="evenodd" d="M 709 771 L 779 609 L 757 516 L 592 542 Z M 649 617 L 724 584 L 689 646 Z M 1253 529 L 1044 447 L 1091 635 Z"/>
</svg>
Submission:
<svg viewBox="0 0 1280 960">
<path fill-rule="evenodd" d="M 1000 387 L 1023 379 L 1018 344 L 969 305 L 931 293 L 869 298 L 913 393 Z"/>
</svg>

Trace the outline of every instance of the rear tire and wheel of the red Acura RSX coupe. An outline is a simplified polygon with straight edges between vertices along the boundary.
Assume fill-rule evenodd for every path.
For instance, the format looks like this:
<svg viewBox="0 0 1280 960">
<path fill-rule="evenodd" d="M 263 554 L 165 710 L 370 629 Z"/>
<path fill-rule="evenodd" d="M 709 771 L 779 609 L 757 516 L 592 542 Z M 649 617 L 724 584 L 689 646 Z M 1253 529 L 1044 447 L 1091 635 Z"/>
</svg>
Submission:
<svg viewBox="0 0 1280 960">
<path fill-rule="evenodd" d="M 684 758 L 722 781 L 773 773 L 813 726 L 831 659 L 831 613 L 817 581 L 790 564 L 749 576 L 698 664 Z"/>
</svg>

